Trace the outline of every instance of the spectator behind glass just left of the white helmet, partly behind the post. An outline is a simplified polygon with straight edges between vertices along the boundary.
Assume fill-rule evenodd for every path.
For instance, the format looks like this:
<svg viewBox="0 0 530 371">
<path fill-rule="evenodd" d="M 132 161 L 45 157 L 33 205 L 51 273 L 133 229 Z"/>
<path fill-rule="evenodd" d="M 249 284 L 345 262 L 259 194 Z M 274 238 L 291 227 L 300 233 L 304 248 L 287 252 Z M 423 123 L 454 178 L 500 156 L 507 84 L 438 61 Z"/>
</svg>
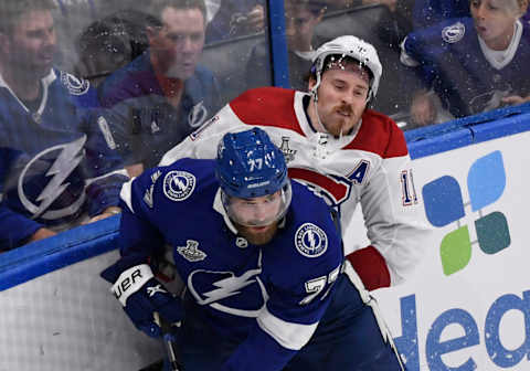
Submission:
<svg viewBox="0 0 530 371">
<path fill-rule="evenodd" d="M 315 28 L 322 20 L 326 3 L 321 0 L 285 0 L 285 35 L 287 39 L 289 59 L 290 87 L 307 91 L 308 71 L 311 66 L 315 49 L 324 40 L 315 36 Z M 269 73 L 256 74 L 259 71 L 269 71 L 271 59 L 268 43 L 256 45 L 246 65 L 247 87 L 267 86 Z"/>
</svg>

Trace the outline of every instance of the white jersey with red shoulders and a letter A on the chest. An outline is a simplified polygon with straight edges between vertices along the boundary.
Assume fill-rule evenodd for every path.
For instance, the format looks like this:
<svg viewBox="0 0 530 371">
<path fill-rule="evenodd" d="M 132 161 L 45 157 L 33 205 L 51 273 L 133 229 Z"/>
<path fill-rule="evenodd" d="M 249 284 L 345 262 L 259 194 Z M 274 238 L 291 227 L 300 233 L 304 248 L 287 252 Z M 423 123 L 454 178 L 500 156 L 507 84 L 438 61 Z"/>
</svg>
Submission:
<svg viewBox="0 0 530 371">
<path fill-rule="evenodd" d="M 341 138 L 316 132 L 306 116 L 305 96 L 277 87 L 248 91 L 167 152 L 161 165 L 183 157 L 215 158 L 225 132 L 259 126 L 284 152 L 289 177 L 308 184 L 336 209 L 343 236 L 361 203 L 370 244 L 384 257 L 390 284 L 399 284 L 423 256 L 431 230 L 403 132 L 371 109 L 364 112 L 357 132 Z M 344 246 L 349 243 L 344 241 Z"/>
</svg>

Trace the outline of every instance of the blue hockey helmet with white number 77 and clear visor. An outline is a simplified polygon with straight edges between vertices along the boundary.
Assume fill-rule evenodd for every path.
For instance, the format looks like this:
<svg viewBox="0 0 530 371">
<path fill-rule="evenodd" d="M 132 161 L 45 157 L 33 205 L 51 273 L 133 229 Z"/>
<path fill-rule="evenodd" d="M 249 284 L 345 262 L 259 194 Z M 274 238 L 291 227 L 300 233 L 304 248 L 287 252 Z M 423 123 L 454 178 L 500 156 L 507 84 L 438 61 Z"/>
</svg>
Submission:
<svg viewBox="0 0 530 371">
<path fill-rule="evenodd" d="M 284 155 L 257 127 L 223 136 L 218 147 L 215 176 L 221 186 L 224 209 L 240 224 L 269 224 L 283 218 L 290 204 L 290 180 Z M 257 219 L 243 218 L 242 209 L 236 209 L 233 202 L 234 198 L 252 200 L 273 195 L 269 203 L 275 205 L 277 201 L 277 208 L 272 214 Z M 257 210 L 258 204 L 252 204 Z"/>
</svg>

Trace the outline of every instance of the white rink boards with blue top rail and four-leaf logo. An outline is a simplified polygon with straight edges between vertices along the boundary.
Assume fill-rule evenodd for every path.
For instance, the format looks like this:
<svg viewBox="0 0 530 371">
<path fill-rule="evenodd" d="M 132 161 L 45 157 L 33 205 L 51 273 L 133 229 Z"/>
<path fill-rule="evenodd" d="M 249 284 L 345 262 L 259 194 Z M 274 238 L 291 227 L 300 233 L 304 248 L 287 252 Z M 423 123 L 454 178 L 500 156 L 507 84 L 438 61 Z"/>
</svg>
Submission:
<svg viewBox="0 0 530 371">
<path fill-rule="evenodd" d="M 374 296 L 409 370 L 530 369 L 530 114 L 406 136 L 434 237 L 407 284 Z M 0 371 L 139 370 L 161 357 L 98 276 L 117 258 L 117 223 L 0 255 Z"/>
</svg>

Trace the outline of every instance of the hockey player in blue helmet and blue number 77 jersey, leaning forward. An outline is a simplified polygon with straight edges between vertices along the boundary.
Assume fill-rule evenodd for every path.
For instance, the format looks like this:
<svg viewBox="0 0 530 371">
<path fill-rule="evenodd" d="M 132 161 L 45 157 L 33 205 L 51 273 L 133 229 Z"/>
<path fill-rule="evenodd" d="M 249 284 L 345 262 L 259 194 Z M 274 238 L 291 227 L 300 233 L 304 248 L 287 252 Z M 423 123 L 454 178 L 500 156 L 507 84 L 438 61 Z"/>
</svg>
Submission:
<svg viewBox="0 0 530 371">
<path fill-rule="evenodd" d="M 184 158 L 121 190 L 121 257 L 102 273 L 136 327 L 182 321 L 183 370 L 402 370 L 325 201 L 290 181 L 259 128 L 225 134 L 214 160 Z M 150 266 L 163 244 L 186 283 Z"/>
</svg>

